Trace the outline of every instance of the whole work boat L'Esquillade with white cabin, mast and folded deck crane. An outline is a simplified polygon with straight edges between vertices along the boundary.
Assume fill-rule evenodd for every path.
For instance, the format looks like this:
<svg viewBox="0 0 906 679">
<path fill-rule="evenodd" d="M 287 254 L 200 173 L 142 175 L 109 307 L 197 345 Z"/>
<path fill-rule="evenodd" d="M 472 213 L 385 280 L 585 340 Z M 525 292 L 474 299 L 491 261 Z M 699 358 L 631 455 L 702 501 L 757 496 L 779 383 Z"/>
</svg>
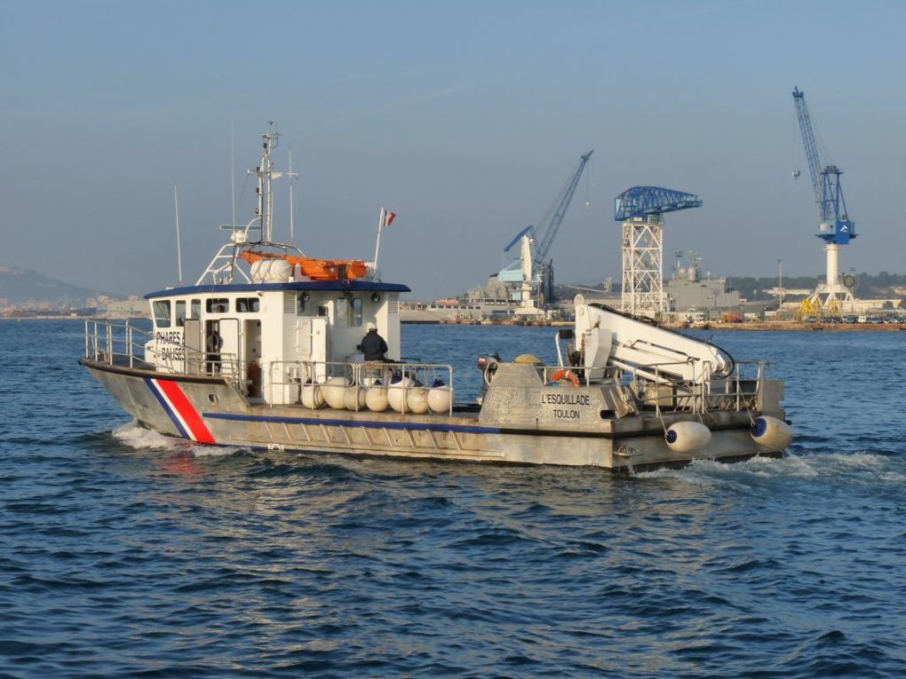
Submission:
<svg viewBox="0 0 906 679">
<path fill-rule="evenodd" d="M 377 252 L 318 259 L 275 242 L 278 134 L 262 137 L 255 217 L 230 225 L 198 281 L 146 295 L 150 331 L 85 322 L 80 363 L 140 426 L 199 445 L 629 473 L 779 456 L 793 440 L 766 362 L 581 295 L 555 365 L 482 355 L 482 393 L 459 403 L 451 365 L 402 359 L 410 288 L 381 280 Z M 370 324 L 383 360 L 359 350 Z"/>
</svg>

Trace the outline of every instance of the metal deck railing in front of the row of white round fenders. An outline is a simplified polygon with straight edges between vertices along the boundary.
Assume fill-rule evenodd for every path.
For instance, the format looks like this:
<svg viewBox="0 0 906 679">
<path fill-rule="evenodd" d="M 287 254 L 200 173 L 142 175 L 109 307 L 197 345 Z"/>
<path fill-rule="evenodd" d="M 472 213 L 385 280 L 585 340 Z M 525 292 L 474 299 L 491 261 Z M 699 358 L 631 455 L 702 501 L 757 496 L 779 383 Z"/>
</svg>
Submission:
<svg viewBox="0 0 906 679">
<path fill-rule="evenodd" d="M 328 390 L 333 389 L 387 389 L 398 390 L 390 399 L 390 408 L 400 413 L 421 414 L 429 409 L 433 413 L 453 414 L 453 367 L 436 363 L 410 363 L 385 361 L 270 361 L 267 364 L 267 395 L 265 401 L 273 405 L 306 402 L 318 405 Z M 307 389 L 312 389 L 306 400 Z M 321 396 L 314 392 L 320 391 Z M 428 400 L 430 393 L 435 397 Z M 367 392 L 365 392 L 367 393 Z M 440 394 L 445 397 L 440 397 Z M 399 398 L 396 396 L 399 395 Z M 339 394 L 332 406 L 339 406 Z M 345 397 L 345 394 L 343 394 Z M 359 411 L 370 409 L 362 405 L 360 393 L 354 391 L 345 400 L 344 407 Z M 411 397 L 411 398 L 410 398 Z M 444 404 L 441 407 L 424 404 Z M 328 404 L 331 405 L 331 404 Z"/>
</svg>

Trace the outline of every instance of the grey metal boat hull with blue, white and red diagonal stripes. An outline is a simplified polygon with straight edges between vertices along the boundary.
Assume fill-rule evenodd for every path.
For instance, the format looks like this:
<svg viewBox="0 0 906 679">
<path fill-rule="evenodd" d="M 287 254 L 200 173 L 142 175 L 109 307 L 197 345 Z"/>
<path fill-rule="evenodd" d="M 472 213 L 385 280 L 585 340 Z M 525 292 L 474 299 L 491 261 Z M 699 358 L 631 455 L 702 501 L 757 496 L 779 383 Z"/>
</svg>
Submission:
<svg viewBox="0 0 906 679">
<path fill-rule="evenodd" d="M 693 453 L 671 450 L 663 417 L 614 418 L 593 429 L 495 425 L 477 412 L 403 415 L 307 409 L 249 402 L 223 378 L 182 376 L 82 359 L 120 406 L 142 425 L 209 445 L 253 449 L 513 464 L 597 466 L 638 471 L 696 459 L 735 461 L 780 450 L 757 445 L 747 413 L 709 415 L 711 438 Z"/>
</svg>

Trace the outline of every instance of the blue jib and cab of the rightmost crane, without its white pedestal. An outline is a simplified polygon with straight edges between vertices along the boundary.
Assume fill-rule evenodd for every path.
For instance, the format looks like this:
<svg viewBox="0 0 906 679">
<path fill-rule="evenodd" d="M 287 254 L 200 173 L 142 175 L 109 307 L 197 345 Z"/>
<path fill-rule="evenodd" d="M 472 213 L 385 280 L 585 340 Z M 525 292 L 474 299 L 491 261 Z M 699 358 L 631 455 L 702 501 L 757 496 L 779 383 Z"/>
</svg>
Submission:
<svg viewBox="0 0 906 679">
<path fill-rule="evenodd" d="M 805 105 L 805 92 L 795 87 L 793 100 L 799 130 L 802 133 L 802 143 L 805 146 L 805 158 L 808 160 L 808 172 L 812 177 L 814 200 L 818 206 L 818 233 L 815 235 L 824 243 L 848 244 L 858 234 L 855 232 L 855 224 L 846 212 L 846 200 L 843 198 L 843 186 L 840 184 L 843 170 L 835 165 L 822 167 L 818 145 L 814 140 L 812 120 Z M 794 177 L 798 177 L 798 174 L 794 173 Z"/>
</svg>

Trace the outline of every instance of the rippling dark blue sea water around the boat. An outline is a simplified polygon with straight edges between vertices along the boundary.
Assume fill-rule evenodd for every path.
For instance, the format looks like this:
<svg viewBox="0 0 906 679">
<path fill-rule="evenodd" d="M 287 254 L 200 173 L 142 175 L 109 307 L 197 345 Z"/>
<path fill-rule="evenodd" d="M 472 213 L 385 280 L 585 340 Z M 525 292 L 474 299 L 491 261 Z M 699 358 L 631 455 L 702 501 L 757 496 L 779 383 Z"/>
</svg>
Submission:
<svg viewBox="0 0 906 679">
<path fill-rule="evenodd" d="M 553 338 L 403 329 L 461 398 Z M 789 454 L 627 477 L 189 445 L 0 322 L 0 676 L 906 676 L 906 333 L 713 339 Z"/>
</svg>

